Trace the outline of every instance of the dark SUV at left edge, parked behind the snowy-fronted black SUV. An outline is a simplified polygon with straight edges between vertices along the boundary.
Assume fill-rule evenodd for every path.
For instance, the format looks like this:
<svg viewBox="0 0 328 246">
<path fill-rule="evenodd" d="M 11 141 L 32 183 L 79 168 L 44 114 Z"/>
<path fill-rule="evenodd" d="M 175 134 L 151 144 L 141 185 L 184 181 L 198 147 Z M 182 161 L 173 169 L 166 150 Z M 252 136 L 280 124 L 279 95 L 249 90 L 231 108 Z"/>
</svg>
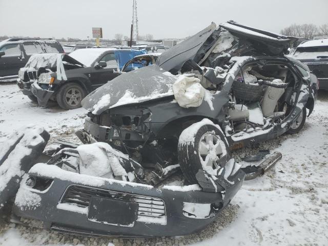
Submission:
<svg viewBox="0 0 328 246">
<path fill-rule="evenodd" d="M 9 38 L 0 42 L 0 80 L 15 80 L 31 55 L 43 53 L 64 53 L 64 50 L 51 38 Z"/>
</svg>

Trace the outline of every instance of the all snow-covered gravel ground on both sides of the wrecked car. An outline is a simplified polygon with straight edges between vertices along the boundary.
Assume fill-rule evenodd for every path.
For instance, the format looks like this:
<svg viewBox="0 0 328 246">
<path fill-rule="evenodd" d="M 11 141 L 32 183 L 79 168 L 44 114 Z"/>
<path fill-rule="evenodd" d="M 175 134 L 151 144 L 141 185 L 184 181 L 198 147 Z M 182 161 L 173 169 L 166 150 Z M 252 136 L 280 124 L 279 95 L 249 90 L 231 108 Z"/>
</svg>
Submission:
<svg viewBox="0 0 328 246">
<path fill-rule="evenodd" d="M 30 123 L 44 126 L 53 138 L 73 139 L 86 111 L 40 108 L 0 85 L 0 144 L 13 130 Z M 221 216 L 194 235 L 152 239 L 100 239 L 16 226 L 0 218 L 0 245 L 328 245 L 328 93 L 321 92 L 303 130 L 260 144 L 280 151 L 282 159 L 267 174 L 245 181 Z M 259 149 L 233 153 L 240 157 Z"/>
</svg>

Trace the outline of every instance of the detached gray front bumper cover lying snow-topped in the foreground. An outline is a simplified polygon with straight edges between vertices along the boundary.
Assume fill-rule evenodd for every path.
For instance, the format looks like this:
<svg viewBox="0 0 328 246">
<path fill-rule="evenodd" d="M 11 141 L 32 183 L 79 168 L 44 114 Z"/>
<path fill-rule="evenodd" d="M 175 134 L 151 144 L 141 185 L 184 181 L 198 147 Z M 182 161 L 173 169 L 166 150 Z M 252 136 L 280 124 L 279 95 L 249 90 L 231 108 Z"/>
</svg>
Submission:
<svg viewBox="0 0 328 246">
<path fill-rule="evenodd" d="M 23 180 L 13 206 L 16 215 L 77 235 L 151 237 L 186 235 L 206 227 L 240 189 L 245 174 L 239 170 L 219 192 L 204 192 L 198 185 L 157 189 L 44 163 L 33 166 L 29 176 L 50 180 L 51 185 L 33 189 Z"/>
</svg>

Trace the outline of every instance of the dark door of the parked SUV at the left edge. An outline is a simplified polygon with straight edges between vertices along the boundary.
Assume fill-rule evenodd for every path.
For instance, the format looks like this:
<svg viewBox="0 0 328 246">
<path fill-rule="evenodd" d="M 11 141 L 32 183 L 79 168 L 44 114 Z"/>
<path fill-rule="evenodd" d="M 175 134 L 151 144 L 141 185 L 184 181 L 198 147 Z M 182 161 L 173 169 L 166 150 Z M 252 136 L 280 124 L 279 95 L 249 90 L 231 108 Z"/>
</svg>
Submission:
<svg viewBox="0 0 328 246">
<path fill-rule="evenodd" d="M 0 57 L 0 77 L 17 75 L 18 70 L 27 63 L 19 44 L 7 44 L 0 48 L 5 55 Z"/>
</svg>

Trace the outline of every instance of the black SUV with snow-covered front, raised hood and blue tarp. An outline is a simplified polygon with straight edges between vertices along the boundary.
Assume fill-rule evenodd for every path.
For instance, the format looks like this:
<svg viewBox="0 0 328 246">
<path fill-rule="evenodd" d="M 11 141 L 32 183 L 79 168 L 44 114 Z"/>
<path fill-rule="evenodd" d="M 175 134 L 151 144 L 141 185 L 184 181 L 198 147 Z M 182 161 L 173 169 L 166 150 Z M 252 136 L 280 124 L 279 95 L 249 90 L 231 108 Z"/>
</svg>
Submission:
<svg viewBox="0 0 328 246">
<path fill-rule="evenodd" d="M 117 77 L 132 57 L 144 53 L 134 49 L 87 48 L 70 55 L 33 55 L 19 70 L 17 85 L 40 106 L 53 100 L 63 109 L 79 108 L 87 94 Z"/>
</svg>

